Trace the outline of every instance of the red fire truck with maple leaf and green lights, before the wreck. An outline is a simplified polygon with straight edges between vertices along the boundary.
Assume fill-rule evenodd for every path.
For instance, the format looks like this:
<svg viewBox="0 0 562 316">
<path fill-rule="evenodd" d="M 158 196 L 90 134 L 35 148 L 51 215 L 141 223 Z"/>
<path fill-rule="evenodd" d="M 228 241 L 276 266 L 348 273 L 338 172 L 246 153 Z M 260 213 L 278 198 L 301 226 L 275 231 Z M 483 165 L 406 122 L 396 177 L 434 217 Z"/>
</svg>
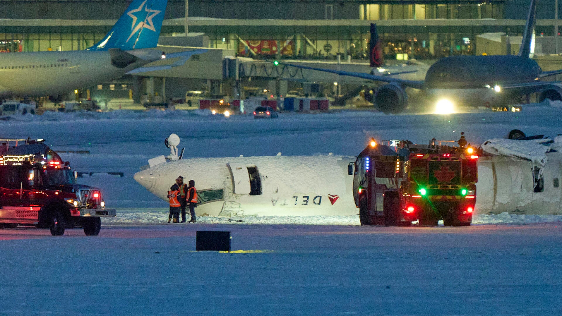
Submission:
<svg viewBox="0 0 562 316">
<path fill-rule="evenodd" d="M 464 133 L 454 141 L 418 145 L 371 139 L 355 162 L 353 197 L 361 225 L 465 226 L 472 222 L 478 181 L 478 150 Z"/>
</svg>

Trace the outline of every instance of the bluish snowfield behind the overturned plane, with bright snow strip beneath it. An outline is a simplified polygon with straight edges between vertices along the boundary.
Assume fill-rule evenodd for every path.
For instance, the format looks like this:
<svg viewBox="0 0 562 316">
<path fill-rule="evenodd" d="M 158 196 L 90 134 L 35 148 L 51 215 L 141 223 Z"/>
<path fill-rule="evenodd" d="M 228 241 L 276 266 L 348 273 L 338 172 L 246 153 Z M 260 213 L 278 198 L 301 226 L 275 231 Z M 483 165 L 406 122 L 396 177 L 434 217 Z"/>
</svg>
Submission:
<svg viewBox="0 0 562 316">
<path fill-rule="evenodd" d="M 558 103 L 554 103 L 556 105 Z M 10 138 L 45 138 L 57 151 L 88 150 L 90 154 L 61 154 L 80 172 L 123 172 L 84 175 L 80 183 L 100 187 L 108 207 L 117 207 L 116 222 L 158 223 L 155 214 L 167 212 L 159 200 L 133 180 L 147 160 L 169 150 L 164 138 L 176 133 L 185 147 L 184 157 L 276 155 L 357 155 L 370 137 L 453 139 L 466 133 L 470 143 L 506 136 L 514 128 L 527 134 L 556 136 L 562 133 L 560 109 L 547 103 L 525 107 L 522 112 L 473 111 L 452 115 L 384 115 L 374 111 L 342 111 L 329 114 L 281 114 L 279 119 L 254 120 L 251 115 L 224 118 L 209 111 L 47 112 L 42 116 L 12 116 L 0 122 Z M 129 210 L 125 209 L 128 208 Z M 552 217 L 552 216 L 551 216 Z M 558 217 L 548 218 L 549 221 Z M 209 219 L 221 222 L 222 219 Z M 271 223 L 275 219 L 247 219 Z M 534 216 L 476 216 L 474 223 L 536 222 Z M 297 223 L 357 224 L 357 219 L 303 218 Z M 539 220 L 540 221 L 540 220 Z M 277 219 L 278 223 L 295 223 Z"/>
</svg>

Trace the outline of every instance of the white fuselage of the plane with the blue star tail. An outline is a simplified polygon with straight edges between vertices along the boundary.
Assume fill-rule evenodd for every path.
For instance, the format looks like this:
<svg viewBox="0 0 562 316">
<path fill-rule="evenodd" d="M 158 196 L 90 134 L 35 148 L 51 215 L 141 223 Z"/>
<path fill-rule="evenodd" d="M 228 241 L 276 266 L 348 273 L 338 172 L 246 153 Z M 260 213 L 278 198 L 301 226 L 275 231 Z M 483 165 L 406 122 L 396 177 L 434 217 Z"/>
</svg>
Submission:
<svg viewBox="0 0 562 316">
<path fill-rule="evenodd" d="M 136 60 L 124 67 L 112 64 L 112 59 L 131 55 L 137 57 Z M 130 70 L 159 60 L 161 55 L 162 52 L 156 49 L 126 52 L 117 50 L 4 53 L 0 56 L 0 97 L 65 94 L 74 89 L 88 88 L 106 80 L 119 78 Z"/>
</svg>

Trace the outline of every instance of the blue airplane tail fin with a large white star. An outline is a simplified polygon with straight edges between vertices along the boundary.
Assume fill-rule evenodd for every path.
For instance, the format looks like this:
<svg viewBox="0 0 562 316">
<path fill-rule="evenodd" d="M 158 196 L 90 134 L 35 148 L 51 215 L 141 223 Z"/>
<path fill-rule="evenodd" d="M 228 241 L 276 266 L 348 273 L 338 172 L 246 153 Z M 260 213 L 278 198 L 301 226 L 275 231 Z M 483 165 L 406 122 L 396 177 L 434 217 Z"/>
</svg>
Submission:
<svg viewBox="0 0 562 316">
<path fill-rule="evenodd" d="M 90 51 L 153 48 L 158 44 L 167 0 L 133 0 L 113 28 Z"/>
</svg>

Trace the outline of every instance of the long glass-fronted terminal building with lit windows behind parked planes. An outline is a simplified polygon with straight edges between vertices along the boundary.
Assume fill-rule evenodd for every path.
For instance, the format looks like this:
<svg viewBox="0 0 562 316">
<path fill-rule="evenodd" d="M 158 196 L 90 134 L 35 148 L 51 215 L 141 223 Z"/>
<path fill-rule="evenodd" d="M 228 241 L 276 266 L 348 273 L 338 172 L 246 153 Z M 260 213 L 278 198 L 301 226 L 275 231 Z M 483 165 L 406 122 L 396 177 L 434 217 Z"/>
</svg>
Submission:
<svg viewBox="0 0 562 316">
<path fill-rule="evenodd" d="M 4 0 L 0 51 L 84 49 L 124 12 L 125 0 Z M 527 0 L 169 0 L 162 35 L 205 33 L 209 47 L 238 56 L 364 58 L 376 21 L 387 58 L 473 54 L 475 36 L 520 35 Z M 537 34 L 554 34 L 554 0 L 537 6 Z"/>
</svg>

